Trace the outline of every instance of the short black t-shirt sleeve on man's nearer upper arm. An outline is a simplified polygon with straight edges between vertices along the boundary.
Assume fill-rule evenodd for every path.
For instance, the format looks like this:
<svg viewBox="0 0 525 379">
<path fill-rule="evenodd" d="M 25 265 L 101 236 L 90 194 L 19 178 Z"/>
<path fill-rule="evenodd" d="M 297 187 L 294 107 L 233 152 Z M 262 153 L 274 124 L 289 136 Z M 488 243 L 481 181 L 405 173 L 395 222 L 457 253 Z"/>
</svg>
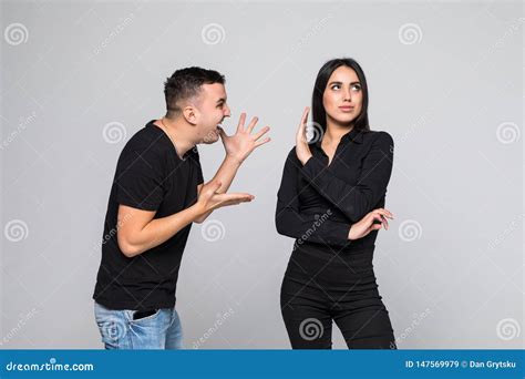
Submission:
<svg viewBox="0 0 525 379">
<path fill-rule="evenodd" d="M 164 198 L 162 155 L 151 146 L 126 146 L 115 175 L 116 201 L 143 211 L 157 211 Z"/>
</svg>

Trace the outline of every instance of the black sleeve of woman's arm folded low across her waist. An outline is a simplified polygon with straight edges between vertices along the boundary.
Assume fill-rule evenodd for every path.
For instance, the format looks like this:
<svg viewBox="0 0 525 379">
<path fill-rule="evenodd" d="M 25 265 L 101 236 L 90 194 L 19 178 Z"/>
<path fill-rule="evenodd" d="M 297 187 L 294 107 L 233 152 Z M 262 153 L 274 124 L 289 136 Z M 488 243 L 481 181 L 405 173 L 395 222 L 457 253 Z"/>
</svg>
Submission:
<svg viewBox="0 0 525 379">
<path fill-rule="evenodd" d="M 332 246 L 347 246 L 351 243 L 348 233 L 351 224 L 330 219 L 332 212 L 316 217 L 300 211 L 297 186 L 301 164 L 292 148 L 288 154 L 282 172 L 282 180 L 277 193 L 276 226 L 277 232 L 288 237 L 321 243 Z"/>
</svg>

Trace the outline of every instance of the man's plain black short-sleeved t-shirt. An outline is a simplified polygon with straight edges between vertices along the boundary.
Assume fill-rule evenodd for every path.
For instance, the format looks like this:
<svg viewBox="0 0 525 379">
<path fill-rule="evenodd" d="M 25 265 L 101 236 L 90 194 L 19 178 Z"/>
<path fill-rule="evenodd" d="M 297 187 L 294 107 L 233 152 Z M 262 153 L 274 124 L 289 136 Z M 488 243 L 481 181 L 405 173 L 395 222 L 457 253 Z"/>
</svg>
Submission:
<svg viewBox="0 0 525 379">
<path fill-rule="evenodd" d="M 119 205 L 156 211 L 154 218 L 181 212 L 197 199 L 203 171 L 197 148 L 184 158 L 154 121 L 124 146 L 111 188 L 102 239 L 102 262 L 93 299 L 110 309 L 150 310 L 175 306 L 178 267 L 192 224 L 133 258 L 119 248 Z M 125 223 L 126 219 L 121 221 Z"/>
</svg>

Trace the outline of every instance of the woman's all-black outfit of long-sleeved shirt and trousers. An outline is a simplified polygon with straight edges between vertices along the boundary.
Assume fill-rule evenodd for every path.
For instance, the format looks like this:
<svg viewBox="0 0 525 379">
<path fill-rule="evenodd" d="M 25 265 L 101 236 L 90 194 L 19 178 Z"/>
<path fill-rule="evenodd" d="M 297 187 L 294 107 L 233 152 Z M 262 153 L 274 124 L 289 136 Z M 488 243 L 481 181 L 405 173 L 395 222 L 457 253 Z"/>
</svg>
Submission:
<svg viewBox="0 0 525 379">
<path fill-rule="evenodd" d="M 378 231 L 349 240 L 350 226 L 384 207 L 393 162 L 387 132 L 347 133 L 328 165 L 321 142 L 302 166 L 288 154 L 278 192 L 278 233 L 296 238 L 281 286 L 281 311 L 292 348 L 331 348 L 332 320 L 349 348 L 395 349 L 378 291 Z"/>
</svg>

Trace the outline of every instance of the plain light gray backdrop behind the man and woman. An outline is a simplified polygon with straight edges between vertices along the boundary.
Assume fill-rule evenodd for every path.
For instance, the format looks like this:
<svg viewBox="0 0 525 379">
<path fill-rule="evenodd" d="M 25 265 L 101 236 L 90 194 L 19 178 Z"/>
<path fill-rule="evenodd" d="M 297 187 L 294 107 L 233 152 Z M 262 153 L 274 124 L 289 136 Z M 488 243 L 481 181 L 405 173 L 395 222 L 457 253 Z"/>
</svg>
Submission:
<svg viewBox="0 0 525 379">
<path fill-rule="evenodd" d="M 101 348 L 91 295 L 117 156 L 178 68 L 226 74 L 233 117 L 272 127 L 194 225 L 177 297 L 186 348 L 289 348 L 276 233 L 285 157 L 317 71 L 352 57 L 394 139 L 377 240 L 399 348 L 523 347 L 523 3 L 4 1 L 2 348 Z M 205 178 L 224 156 L 202 146 Z M 334 348 L 344 348 L 337 328 Z"/>
</svg>

